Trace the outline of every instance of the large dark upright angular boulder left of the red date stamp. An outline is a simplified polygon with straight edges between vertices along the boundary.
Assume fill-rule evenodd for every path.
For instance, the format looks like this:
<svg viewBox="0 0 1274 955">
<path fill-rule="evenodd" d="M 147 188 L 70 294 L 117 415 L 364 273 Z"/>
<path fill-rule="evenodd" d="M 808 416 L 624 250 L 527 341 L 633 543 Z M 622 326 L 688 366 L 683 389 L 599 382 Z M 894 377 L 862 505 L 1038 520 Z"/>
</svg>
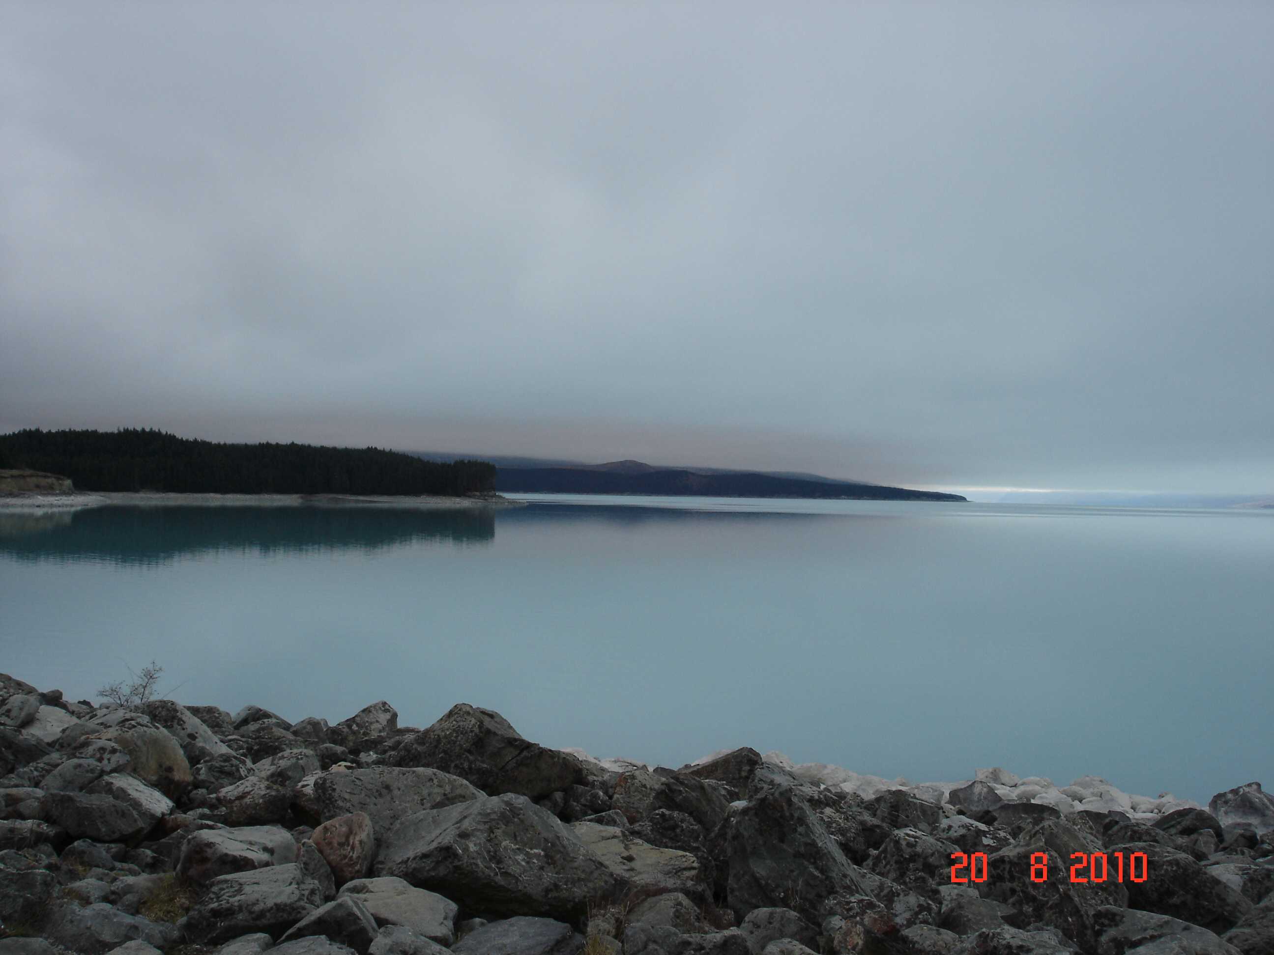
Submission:
<svg viewBox="0 0 1274 955">
<path fill-rule="evenodd" d="M 833 894 L 866 895 L 860 870 L 850 862 L 812 805 L 804 787 L 776 787 L 726 817 L 726 895 L 735 916 L 758 908 L 790 908 L 822 919 Z"/>
</svg>

